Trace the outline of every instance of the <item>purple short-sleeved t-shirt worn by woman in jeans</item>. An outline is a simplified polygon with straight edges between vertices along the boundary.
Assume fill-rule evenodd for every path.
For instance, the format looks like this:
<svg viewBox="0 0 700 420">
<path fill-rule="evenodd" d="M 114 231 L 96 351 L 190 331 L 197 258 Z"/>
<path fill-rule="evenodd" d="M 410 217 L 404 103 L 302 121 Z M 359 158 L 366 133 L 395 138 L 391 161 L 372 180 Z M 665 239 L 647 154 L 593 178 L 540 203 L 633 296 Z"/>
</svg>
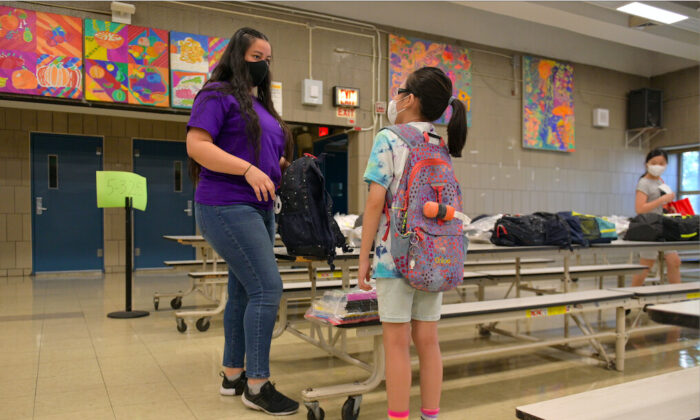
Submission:
<svg viewBox="0 0 700 420">
<path fill-rule="evenodd" d="M 261 131 L 260 162 L 256 166 L 279 187 L 282 178 L 279 161 L 284 155 L 284 133 L 277 120 L 255 98 L 253 109 L 258 114 Z M 187 123 L 187 128 L 190 127 L 206 130 L 214 139 L 214 144 L 222 150 L 255 165 L 255 152 L 246 134 L 245 120 L 233 95 L 217 91 L 201 92 L 192 106 Z M 243 176 L 210 171 L 204 166 L 194 199 L 197 203 L 210 206 L 245 203 L 268 209 L 273 205 L 272 200 L 258 201 L 253 188 Z"/>
</svg>

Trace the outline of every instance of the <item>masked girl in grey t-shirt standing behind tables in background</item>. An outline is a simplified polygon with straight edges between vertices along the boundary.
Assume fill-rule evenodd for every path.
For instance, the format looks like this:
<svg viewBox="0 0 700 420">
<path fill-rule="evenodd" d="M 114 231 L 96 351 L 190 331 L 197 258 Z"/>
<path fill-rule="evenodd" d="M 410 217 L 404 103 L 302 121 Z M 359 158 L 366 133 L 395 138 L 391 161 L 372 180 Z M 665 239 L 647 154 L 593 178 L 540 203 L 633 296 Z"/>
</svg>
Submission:
<svg viewBox="0 0 700 420">
<path fill-rule="evenodd" d="M 665 150 L 654 149 L 647 154 L 646 172 L 639 178 L 637 183 L 634 210 L 639 214 L 656 213 L 663 214 L 664 205 L 674 200 L 675 194 L 661 179 L 661 175 L 668 165 L 668 154 Z M 639 264 L 646 265 L 647 268 L 640 274 L 632 277 L 632 287 L 644 285 L 644 280 L 649 274 L 649 270 L 656 262 L 656 251 L 640 251 Z M 676 251 L 665 251 L 664 259 L 668 269 L 668 282 L 681 282 L 681 259 Z"/>
</svg>

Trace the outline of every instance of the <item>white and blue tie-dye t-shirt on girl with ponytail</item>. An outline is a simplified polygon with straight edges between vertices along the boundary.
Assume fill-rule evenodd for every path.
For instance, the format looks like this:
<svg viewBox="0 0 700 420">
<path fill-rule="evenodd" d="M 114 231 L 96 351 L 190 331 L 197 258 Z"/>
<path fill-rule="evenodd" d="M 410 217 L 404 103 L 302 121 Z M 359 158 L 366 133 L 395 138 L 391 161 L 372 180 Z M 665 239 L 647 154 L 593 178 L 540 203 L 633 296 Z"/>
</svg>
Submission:
<svg viewBox="0 0 700 420">
<path fill-rule="evenodd" d="M 409 124 L 420 131 L 435 132 L 435 127 L 428 122 Z M 365 182 L 368 184 L 376 182 L 389 190 L 391 196 L 394 196 L 399 188 L 403 168 L 408 160 L 408 152 L 408 146 L 396 134 L 389 130 L 380 131 L 374 138 L 372 153 L 369 155 L 367 169 L 365 169 Z M 382 240 L 386 228 L 386 215 L 382 213 L 382 217 L 379 219 L 377 237 L 374 240 L 373 278 L 402 277 L 391 258 L 391 235 L 387 237 L 386 241 Z"/>
</svg>

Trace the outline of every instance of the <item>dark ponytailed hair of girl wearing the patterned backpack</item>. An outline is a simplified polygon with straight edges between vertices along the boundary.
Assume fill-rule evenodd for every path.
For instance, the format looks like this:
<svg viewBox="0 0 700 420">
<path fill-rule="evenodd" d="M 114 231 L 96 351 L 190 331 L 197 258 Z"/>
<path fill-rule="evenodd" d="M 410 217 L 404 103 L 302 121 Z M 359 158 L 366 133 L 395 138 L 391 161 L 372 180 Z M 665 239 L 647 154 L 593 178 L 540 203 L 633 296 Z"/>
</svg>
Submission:
<svg viewBox="0 0 700 420">
<path fill-rule="evenodd" d="M 420 99 L 420 110 L 428 121 L 442 116 L 452 98 L 452 81 L 437 67 L 422 67 L 408 76 L 406 89 Z M 447 125 L 447 148 L 450 155 L 462 156 L 467 142 L 467 109 L 464 104 L 452 100 L 452 117 Z"/>
</svg>

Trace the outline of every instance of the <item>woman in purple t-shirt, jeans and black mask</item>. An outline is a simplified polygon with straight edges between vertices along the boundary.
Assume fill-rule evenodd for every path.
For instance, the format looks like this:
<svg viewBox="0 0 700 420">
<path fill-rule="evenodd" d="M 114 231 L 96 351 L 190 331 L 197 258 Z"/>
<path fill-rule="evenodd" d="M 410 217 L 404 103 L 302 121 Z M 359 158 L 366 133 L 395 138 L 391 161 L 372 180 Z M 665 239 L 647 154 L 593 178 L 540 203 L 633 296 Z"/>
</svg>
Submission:
<svg viewBox="0 0 700 420">
<path fill-rule="evenodd" d="M 282 296 L 273 201 L 293 143 L 272 106 L 270 59 L 262 33 L 242 28 L 233 35 L 195 98 L 187 153 L 197 184 L 197 225 L 229 269 L 220 392 L 242 395 L 250 408 L 286 415 L 297 412 L 299 403 L 268 379 Z"/>
</svg>

